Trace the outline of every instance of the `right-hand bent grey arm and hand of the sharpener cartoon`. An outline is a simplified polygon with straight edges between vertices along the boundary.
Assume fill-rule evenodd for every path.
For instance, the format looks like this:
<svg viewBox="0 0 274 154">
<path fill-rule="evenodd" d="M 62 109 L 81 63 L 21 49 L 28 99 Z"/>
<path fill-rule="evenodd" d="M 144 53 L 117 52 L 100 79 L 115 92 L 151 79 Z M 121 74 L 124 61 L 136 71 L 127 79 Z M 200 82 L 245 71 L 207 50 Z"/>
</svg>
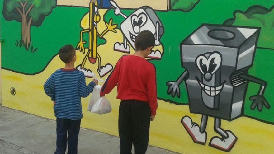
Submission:
<svg viewBox="0 0 274 154">
<path fill-rule="evenodd" d="M 260 90 L 258 91 L 258 94 L 249 97 L 249 100 L 253 100 L 253 102 L 250 106 L 251 110 L 254 110 L 257 106 L 258 111 L 262 111 L 263 105 L 267 109 L 270 109 L 270 105 L 268 104 L 267 100 L 263 96 L 264 91 L 265 91 L 266 86 L 267 86 L 267 82 L 265 82 L 262 79 L 259 79 L 257 77 L 253 77 L 253 76 L 247 75 L 247 74 L 240 75 L 239 77 L 244 79 L 244 80 L 251 81 L 251 82 L 254 82 L 254 83 L 257 83 L 257 84 L 261 85 Z"/>
</svg>

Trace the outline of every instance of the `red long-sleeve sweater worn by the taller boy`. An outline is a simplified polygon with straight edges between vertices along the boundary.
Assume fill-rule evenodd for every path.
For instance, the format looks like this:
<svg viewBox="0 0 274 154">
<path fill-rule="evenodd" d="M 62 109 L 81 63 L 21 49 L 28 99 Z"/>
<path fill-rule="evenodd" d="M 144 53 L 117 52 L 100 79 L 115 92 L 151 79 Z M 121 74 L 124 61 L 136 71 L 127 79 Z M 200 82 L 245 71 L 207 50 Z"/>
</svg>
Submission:
<svg viewBox="0 0 274 154">
<path fill-rule="evenodd" d="M 100 96 L 110 93 L 116 85 L 117 99 L 148 102 L 151 115 L 156 115 L 156 71 L 152 63 L 139 56 L 122 56 L 102 86 Z"/>
</svg>

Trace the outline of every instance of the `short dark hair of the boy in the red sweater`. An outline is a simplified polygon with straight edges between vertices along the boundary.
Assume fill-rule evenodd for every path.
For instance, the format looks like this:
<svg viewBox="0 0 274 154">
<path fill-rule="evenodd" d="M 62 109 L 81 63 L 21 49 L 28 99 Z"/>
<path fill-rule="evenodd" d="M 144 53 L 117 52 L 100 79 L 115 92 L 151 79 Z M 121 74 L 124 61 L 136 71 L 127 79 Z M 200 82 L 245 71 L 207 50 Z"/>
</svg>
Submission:
<svg viewBox="0 0 274 154">
<path fill-rule="evenodd" d="M 145 50 L 148 47 L 154 47 L 155 38 L 149 30 L 141 31 L 135 39 L 135 48 L 138 50 Z"/>
</svg>

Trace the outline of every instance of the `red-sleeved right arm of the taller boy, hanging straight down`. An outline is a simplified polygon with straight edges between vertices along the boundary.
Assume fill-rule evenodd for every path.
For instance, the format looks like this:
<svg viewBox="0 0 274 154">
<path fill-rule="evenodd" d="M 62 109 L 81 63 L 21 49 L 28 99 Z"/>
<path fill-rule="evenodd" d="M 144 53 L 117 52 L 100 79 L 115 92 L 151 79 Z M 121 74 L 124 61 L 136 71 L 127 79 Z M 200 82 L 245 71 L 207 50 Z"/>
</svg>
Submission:
<svg viewBox="0 0 274 154">
<path fill-rule="evenodd" d="M 148 92 L 151 116 L 154 116 L 156 115 L 156 110 L 158 106 L 155 67 L 152 67 L 152 69 L 150 69 L 146 84 L 147 84 L 147 92 Z"/>
</svg>

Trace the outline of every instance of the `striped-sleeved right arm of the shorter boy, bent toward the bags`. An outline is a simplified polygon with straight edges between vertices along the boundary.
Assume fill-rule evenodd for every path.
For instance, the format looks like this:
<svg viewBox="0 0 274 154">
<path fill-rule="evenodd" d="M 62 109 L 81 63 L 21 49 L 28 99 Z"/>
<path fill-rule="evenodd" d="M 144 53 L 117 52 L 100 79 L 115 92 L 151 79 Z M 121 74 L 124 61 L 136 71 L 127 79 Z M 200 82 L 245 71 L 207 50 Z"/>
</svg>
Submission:
<svg viewBox="0 0 274 154">
<path fill-rule="evenodd" d="M 82 75 L 79 82 L 80 97 L 87 97 L 93 91 L 94 86 L 96 86 L 96 84 L 93 81 L 86 85 L 86 78 Z"/>
</svg>

